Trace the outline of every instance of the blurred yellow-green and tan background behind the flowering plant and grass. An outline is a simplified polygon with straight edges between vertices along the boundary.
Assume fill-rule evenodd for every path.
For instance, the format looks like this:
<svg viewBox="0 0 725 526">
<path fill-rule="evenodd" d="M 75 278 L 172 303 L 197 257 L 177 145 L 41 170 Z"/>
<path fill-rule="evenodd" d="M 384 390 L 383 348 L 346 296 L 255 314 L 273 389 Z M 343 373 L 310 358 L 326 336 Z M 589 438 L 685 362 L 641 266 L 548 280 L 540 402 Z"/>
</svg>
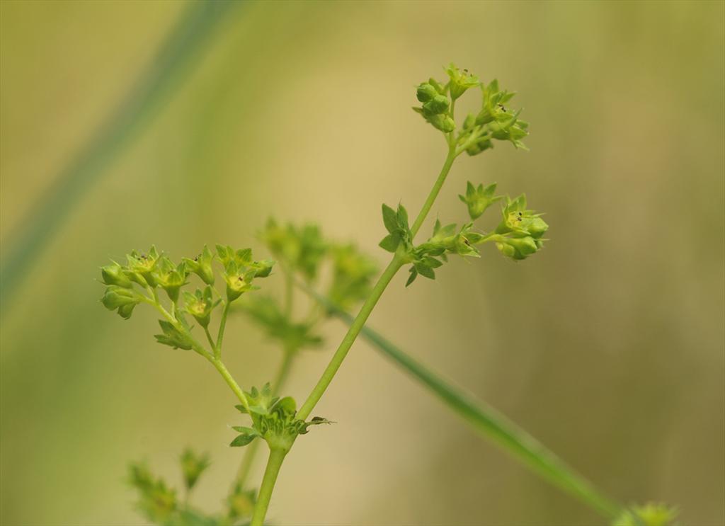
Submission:
<svg viewBox="0 0 725 526">
<path fill-rule="evenodd" d="M 454 61 L 520 93 L 531 152 L 461 158 L 434 212 L 463 219 L 465 181 L 497 180 L 547 212 L 551 241 L 520 264 L 486 247 L 408 290 L 399 275 L 370 324 L 614 498 L 724 524 L 724 6 L 228 9 L 3 298 L 0 522 L 141 524 L 127 462 L 178 481 L 187 445 L 212 454 L 197 497 L 218 508 L 240 456 L 227 447 L 233 396 L 199 356 L 154 343 L 149 309 L 128 322 L 103 309 L 98 267 L 152 243 L 174 258 L 215 242 L 262 254 L 254 234 L 270 214 L 385 262 L 381 202 L 417 210 L 445 155 L 410 111 L 413 86 Z M 0 2 L 4 258 L 193 7 Z M 326 351 L 293 372 L 298 399 L 344 329 L 327 331 Z M 240 383 L 270 379 L 280 356 L 256 327 L 238 318 L 227 338 Z M 289 456 L 279 524 L 439 525 L 450 509 L 460 525 L 601 522 L 366 343 L 316 412 L 338 424 Z"/>
</svg>

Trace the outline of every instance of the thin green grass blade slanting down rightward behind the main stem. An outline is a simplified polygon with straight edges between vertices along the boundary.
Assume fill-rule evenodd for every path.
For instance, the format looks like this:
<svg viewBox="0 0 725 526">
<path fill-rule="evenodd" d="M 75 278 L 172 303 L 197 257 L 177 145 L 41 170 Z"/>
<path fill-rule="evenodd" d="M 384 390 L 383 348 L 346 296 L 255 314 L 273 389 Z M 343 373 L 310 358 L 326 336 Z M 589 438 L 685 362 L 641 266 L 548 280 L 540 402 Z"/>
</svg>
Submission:
<svg viewBox="0 0 725 526">
<path fill-rule="evenodd" d="M 329 312 L 349 325 L 353 317 L 337 308 L 328 299 L 304 287 L 304 290 L 320 302 Z M 382 354 L 401 367 L 440 398 L 444 404 L 463 417 L 479 435 L 497 443 L 522 464 L 533 469 L 553 485 L 566 491 L 581 502 L 591 506 L 605 517 L 613 518 L 621 512 L 618 506 L 602 495 L 593 485 L 577 474 L 562 459 L 547 449 L 536 438 L 526 433 L 514 422 L 493 407 L 476 400 L 461 388 L 444 380 L 438 373 L 428 369 L 421 362 L 402 349 L 394 346 L 384 336 L 370 327 L 363 327 L 363 338 L 373 344 Z"/>
</svg>

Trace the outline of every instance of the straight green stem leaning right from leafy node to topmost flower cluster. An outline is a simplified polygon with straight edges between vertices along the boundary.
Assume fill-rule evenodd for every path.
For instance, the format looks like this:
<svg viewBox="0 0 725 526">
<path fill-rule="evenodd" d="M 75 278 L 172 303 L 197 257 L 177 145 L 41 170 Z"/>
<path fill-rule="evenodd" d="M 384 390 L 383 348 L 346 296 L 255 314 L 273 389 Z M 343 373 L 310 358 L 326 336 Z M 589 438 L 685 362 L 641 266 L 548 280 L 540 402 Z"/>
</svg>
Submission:
<svg viewBox="0 0 725 526">
<path fill-rule="evenodd" d="M 413 234 L 413 237 L 415 237 L 415 234 L 418 233 L 418 230 L 421 229 L 423 221 L 426 220 L 428 212 L 431 211 L 431 206 L 433 206 L 433 203 L 436 200 L 436 197 L 441 191 L 443 183 L 447 178 L 448 172 L 450 172 L 453 161 L 455 160 L 455 155 L 455 147 L 450 146 L 448 149 L 448 155 L 446 156 L 446 160 L 443 164 L 443 167 L 441 168 L 441 172 L 436 179 L 436 183 L 433 185 L 431 193 L 428 194 L 426 202 L 423 203 L 423 208 L 421 208 L 421 212 L 419 212 L 418 217 L 415 218 L 413 227 L 410 228 L 410 232 Z M 368 296 L 368 299 L 365 300 L 365 303 L 360 308 L 360 312 L 357 313 L 355 321 L 353 321 L 352 325 L 350 325 L 347 334 L 345 334 L 342 342 L 340 343 L 340 346 L 337 348 L 337 351 L 335 351 L 335 354 L 332 357 L 330 363 L 328 364 L 326 370 L 323 372 L 322 377 L 320 377 L 320 380 L 318 381 L 317 385 L 315 385 L 315 388 L 312 389 L 312 393 L 310 393 L 310 396 L 308 396 L 307 400 L 305 400 L 305 404 L 302 404 L 302 407 L 299 408 L 297 418 L 304 420 L 308 416 L 310 416 L 310 412 L 312 412 L 312 409 L 315 409 L 315 405 L 317 405 L 318 401 L 320 401 L 320 398 L 322 398 L 323 394 L 328 388 L 328 385 L 330 385 L 330 383 L 332 382 L 332 379 L 334 378 L 337 370 L 339 370 L 342 361 L 345 359 L 345 356 L 347 356 L 347 353 L 352 347 L 352 344 L 355 343 L 355 339 L 357 338 L 357 335 L 360 334 L 360 330 L 363 328 L 363 325 L 365 325 L 365 322 L 368 321 L 370 313 L 373 312 L 373 308 L 378 303 L 380 296 L 383 295 L 385 288 L 388 286 L 388 283 L 390 283 L 390 281 L 393 279 L 393 276 L 396 274 L 396 272 L 400 270 L 400 267 L 405 264 L 404 258 L 405 254 L 402 254 L 401 251 L 397 251 L 395 253 L 392 261 L 384 270 L 381 277 L 378 279 L 378 283 L 376 283 L 373 287 L 373 290 L 370 291 L 370 296 Z"/>
</svg>

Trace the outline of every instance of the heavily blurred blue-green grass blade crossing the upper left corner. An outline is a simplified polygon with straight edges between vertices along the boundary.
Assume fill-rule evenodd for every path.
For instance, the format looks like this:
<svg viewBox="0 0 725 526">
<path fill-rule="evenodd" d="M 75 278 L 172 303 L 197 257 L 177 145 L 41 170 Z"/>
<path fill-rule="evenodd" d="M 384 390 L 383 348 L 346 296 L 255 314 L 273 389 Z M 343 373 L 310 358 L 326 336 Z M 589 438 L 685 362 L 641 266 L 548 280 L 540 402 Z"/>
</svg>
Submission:
<svg viewBox="0 0 725 526">
<path fill-rule="evenodd" d="M 212 40 L 224 15 L 239 4 L 241 2 L 191 2 L 160 46 L 157 56 L 139 75 L 115 111 L 31 206 L 28 214 L 17 222 L 18 226 L 9 236 L 10 242 L 4 243 L 9 250 L 7 255 L 3 254 L 0 272 L 3 304 L 12 298 L 28 275 L 30 264 L 38 262 L 43 248 L 91 185 L 170 100 L 191 66 L 203 56 L 204 47 Z"/>
</svg>

